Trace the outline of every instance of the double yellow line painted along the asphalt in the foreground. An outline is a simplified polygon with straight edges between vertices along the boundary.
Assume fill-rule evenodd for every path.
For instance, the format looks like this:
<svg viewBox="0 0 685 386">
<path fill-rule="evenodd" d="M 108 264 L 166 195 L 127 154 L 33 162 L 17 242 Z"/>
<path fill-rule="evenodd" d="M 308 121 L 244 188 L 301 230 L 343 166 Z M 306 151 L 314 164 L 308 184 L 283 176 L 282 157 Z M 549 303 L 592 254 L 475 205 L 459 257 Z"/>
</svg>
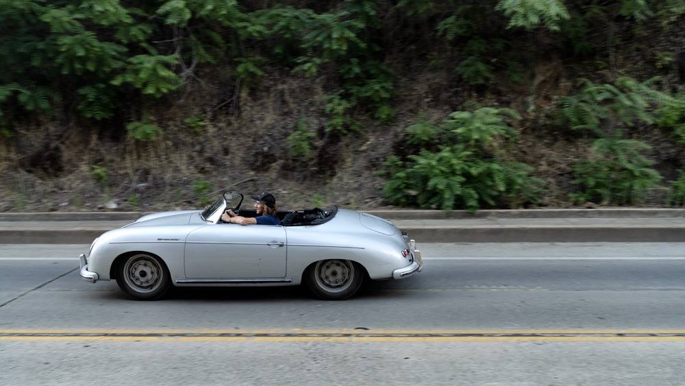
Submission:
<svg viewBox="0 0 685 386">
<path fill-rule="evenodd" d="M 685 342 L 685 330 L 0 330 L 1 341 Z"/>
</svg>

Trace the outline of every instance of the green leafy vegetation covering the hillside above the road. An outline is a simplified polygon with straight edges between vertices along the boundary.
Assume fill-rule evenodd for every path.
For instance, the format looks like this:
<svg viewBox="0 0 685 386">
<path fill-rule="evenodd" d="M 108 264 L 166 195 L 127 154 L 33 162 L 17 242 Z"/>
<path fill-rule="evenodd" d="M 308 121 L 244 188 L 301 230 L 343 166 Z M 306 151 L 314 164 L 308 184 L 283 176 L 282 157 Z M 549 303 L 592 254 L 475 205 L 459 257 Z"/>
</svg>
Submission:
<svg viewBox="0 0 685 386">
<path fill-rule="evenodd" d="M 291 108 L 284 134 L 260 134 L 284 146 L 245 160 L 258 174 L 282 159 L 319 186 L 344 163 L 332 148 L 386 132 L 390 153 L 376 149 L 366 169 L 384 176 L 376 190 L 394 205 L 516 208 L 560 194 L 576 204 L 684 204 L 685 52 L 673 37 L 685 25 L 682 0 L 0 0 L 0 22 L 5 176 L 65 178 L 78 168 L 62 165 L 50 141 L 68 135 L 50 128 L 75 130 L 128 143 L 128 175 L 110 176 L 119 168 L 106 156 L 82 165 L 109 199 L 112 184 L 151 173 L 138 162 L 190 152 L 179 136 L 211 141 L 222 117 L 240 117 L 251 93 L 269 95 L 263 82 L 277 78 L 316 84 L 319 95 L 292 95 L 290 105 L 315 109 Z M 545 72 L 550 63 L 561 69 Z M 447 74 L 434 99 L 399 86 L 427 73 Z M 210 94 L 210 106 L 181 104 Z M 543 176 L 539 160 L 524 159 L 523 134 L 529 147 L 564 138 L 586 150 L 563 176 Z M 671 156 L 654 160 L 649 143 Z M 221 151 L 203 162 L 227 166 Z M 210 193 L 207 172 L 193 173 L 186 196 Z M 119 191 L 140 203 L 137 191 Z"/>
</svg>

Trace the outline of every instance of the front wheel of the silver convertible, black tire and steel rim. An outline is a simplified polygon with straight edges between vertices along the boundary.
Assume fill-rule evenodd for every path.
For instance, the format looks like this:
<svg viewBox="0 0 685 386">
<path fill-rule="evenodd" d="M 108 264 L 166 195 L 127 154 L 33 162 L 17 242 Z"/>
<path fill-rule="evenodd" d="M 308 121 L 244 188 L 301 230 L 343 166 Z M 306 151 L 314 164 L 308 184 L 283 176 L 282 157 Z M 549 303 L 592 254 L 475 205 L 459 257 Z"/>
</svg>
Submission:
<svg viewBox="0 0 685 386">
<path fill-rule="evenodd" d="M 160 258 L 141 252 L 119 262 L 116 284 L 132 299 L 159 300 L 169 291 L 171 276 Z"/>
</svg>

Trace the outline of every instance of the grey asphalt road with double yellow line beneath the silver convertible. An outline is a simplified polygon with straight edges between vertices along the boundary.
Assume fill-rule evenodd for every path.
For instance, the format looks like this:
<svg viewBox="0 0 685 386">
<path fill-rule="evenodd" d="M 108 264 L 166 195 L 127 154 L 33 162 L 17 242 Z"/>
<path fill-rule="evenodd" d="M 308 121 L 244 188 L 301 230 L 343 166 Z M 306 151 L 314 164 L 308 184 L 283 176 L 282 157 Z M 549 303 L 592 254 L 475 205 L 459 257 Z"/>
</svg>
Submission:
<svg viewBox="0 0 685 386">
<path fill-rule="evenodd" d="M 424 244 L 425 271 L 127 300 L 88 245 L 0 245 L 0 384 L 682 385 L 685 243 Z"/>
</svg>

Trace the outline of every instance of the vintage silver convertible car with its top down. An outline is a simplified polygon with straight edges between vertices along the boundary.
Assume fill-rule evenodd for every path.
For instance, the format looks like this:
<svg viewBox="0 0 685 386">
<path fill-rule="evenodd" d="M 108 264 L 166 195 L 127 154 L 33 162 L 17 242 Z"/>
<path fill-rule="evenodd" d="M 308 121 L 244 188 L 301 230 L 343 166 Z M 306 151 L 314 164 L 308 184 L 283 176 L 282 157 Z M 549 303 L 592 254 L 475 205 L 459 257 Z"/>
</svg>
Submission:
<svg viewBox="0 0 685 386">
<path fill-rule="evenodd" d="M 243 217 L 243 195 L 231 191 L 205 210 L 140 217 L 105 232 L 82 254 L 81 277 L 115 279 L 131 298 L 162 298 L 173 285 L 275 286 L 306 282 L 319 298 L 342 300 L 365 278 L 406 278 L 423 269 L 421 252 L 389 221 L 354 210 L 279 211 L 281 226 L 225 224 Z"/>
</svg>

